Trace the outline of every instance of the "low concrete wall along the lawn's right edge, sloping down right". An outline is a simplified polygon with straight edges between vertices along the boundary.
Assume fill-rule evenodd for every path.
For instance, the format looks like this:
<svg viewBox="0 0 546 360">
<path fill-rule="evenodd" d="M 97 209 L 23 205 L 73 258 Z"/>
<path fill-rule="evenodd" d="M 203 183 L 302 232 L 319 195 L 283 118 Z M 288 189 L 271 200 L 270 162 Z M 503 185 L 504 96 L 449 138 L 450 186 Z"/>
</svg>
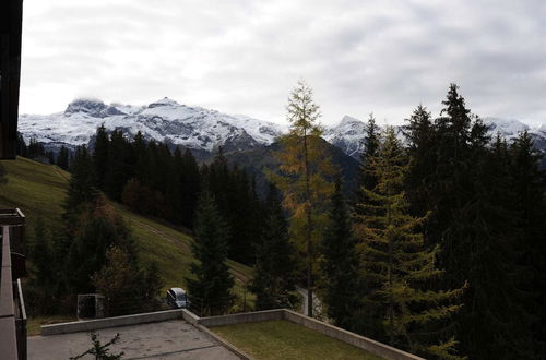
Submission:
<svg viewBox="0 0 546 360">
<path fill-rule="evenodd" d="M 320 322 L 318 320 L 298 314 L 290 310 L 284 310 L 284 319 L 295 324 L 305 326 L 316 332 L 322 333 L 327 336 L 343 343 L 351 344 L 357 348 L 364 349 L 373 355 L 380 356 L 385 359 L 392 360 L 424 360 L 415 355 L 399 350 L 382 343 L 372 340 L 370 338 L 347 332 L 343 328 Z"/>
</svg>

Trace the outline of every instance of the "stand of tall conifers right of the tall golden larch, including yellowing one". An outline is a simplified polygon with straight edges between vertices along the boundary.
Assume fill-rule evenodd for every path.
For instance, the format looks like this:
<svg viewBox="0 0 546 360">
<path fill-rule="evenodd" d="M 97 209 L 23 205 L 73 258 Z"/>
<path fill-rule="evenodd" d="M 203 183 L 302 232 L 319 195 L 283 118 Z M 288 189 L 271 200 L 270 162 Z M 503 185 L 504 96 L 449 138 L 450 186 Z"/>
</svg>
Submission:
<svg viewBox="0 0 546 360">
<path fill-rule="evenodd" d="M 392 143 L 392 136 L 389 140 L 378 133 L 372 118 L 368 122 L 359 188 L 349 200 L 354 204 L 357 250 L 346 232 L 346 217 L 337 215 L 343 213 L 339 195 L 332 199 L 336 211 L 330 218 L 335 225 L 323 248 L 328 279 L 323 299 L 329 315 L 341 326 L 397 347 L 425 351 L 427 357 L 454 356 L 456 348 L 460 356 L 472 359 L 541 358 L 546 340 L 546 178 L 541 170 L 542 156 L 526 132 L 510 143 L 499 135 L 490 139 L 487 127 L 472 115 L 456 85 L 450 86 L 442 105 L 438 118 L 418 106 L 406 120 L 403 131 L 407 143 L 396 160 L 402 178 L 381 176 L 390 168 L 382 148 Z M 402 179 L 401 188 L 389 192 L 396 178 Z M 387 201 L 390 196 L 392 201 Z M 393 213 L 394 208 L 401 213 Z M 400 227 L 404 232 L 413 229 L 404 237 L 413 247 L 408 250 L 417 256 L 415 260 L 396 250 L 404 233 L 394 231 L 400 221 L 396 216 L 402 215 L 415 219 L 412 226 Z M 392 226 L 384 227 L 391 221 Z M 384 231 L 379 231 L 383 227 Z M 334 243 L 343 244 L 344 251 L 332 247 L 335 238 L 339 240 Z M 416 247 L 422 253 L 415 252 Z M 364 279 L 354 290 L 360 293 L 358 305 L 353 291 L 343 291 L 347 288 L 342 286 L 347 284 L 346 274 L 352 272 L 348 262 L 343 263 L 346 269 L 332 278 L 342 266 L 339 260 L 355 254 L 360 262 L 358 278 Z M 417 259 L 427 256 L 434 259 L 438 272 L 429 273 L 428 278 L 425 273 L 412 275 Z M 401 263 L 390 268 L 389 259 L 400 259 Z M 430 266 L 426 268 L 434 268 Z M 404 273 L 414 279 L 405 277 L 396 287 L 396 276 Z M 415 297 L 419 291 L 423 296 Z M 436 316 L 432 322 L 418 320 L 416 314 L 427 310 L 427 299 L 441 304 L 435 297 L 449 291 L 459 299 L 454 308 L 446 304 L 429 311 L 429 316 Z M 413 298 L 417 301 L 412 302 Z M 355 303 L 352 310 L 344 309 L 348 303 Z M 391 305 L 383 308 L 383 303 Z M 413 314 L 406 317 L 407 323 L 396 317 L 404 312 Z M 450 316 L 442 316 L 447 313 Z M 394 321 L 390 324 L 385 319 Z M 396 334 L 392 336 L 389 331 L 396 328 L 396 320 L 397 331 L 404 329 L 410 343 L 397 343 Z M 427 344 L 427 337 L 446 340 L 426 349 L 419 344 Z"/>
</svg>

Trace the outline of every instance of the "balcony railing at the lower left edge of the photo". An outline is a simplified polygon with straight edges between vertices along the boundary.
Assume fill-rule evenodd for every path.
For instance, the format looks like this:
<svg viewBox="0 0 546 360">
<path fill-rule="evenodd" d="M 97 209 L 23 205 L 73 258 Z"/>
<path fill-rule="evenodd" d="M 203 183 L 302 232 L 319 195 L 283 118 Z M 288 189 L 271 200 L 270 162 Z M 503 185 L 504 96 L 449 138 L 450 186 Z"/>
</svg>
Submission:
<svg viewBox="0 0 546 360">
<path fill-rule="evenodd" d="M 0 353 L 2 359 L 26 359 L 26 311 L 20 278 L 25 269 L 25 216 L 0 209 Z"/>
</svg>

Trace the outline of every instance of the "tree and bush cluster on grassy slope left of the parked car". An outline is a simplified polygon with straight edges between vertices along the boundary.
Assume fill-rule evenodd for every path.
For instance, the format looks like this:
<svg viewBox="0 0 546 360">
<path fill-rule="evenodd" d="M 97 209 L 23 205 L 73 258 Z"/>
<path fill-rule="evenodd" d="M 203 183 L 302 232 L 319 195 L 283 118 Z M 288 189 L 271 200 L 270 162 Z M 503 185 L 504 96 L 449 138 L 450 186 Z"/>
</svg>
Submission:
<svg viewBox="0 0 546 360">
<path fill-rule="evenodd" d="M 51 231 L 38 219 L 28 244 L 29 309 L 72 312 L 75 295 L 90 292 L 106 296 L 109 315 L 154 309 L 163 286 L 157 267 L 140 261 L 129 228 L 99 194 L 85 146 L 76 149 L 71 172 L 62 226 Z"/>
</svg>

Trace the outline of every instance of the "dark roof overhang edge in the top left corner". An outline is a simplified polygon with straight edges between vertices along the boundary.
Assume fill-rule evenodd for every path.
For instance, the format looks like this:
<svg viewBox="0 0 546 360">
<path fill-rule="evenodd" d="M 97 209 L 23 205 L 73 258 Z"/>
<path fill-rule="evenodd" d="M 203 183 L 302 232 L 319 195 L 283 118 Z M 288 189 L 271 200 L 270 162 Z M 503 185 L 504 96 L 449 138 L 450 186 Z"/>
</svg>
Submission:
<svg viewBox="0 0 546 360">
<path fill-rule="evenodd" d="M 0 2 L 0 159 L 15 158 L 23 0 Z"/>
</svg>

